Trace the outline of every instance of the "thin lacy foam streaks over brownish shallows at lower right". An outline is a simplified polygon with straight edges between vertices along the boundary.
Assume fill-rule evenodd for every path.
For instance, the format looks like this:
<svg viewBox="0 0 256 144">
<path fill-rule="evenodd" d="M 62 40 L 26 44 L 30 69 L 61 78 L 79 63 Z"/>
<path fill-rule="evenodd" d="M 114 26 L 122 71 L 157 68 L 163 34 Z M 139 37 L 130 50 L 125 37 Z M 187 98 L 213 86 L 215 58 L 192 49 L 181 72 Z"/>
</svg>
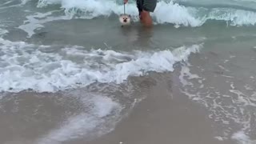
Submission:
<svg viewBox="0 0 256 144">
<path fill-rule="evenodd" d="M 220 78 L 215 77 L 214 74 L 205 74 L 204 70 L 200 70 L 201 66 L 198 66 L 198 63 L 192 62 L 193 73 L 186 64 L 182 66 L 179 76 L 182 93 L 205 106 L 209 110 L 209 118 L 223 128 L 223 131 L 218 131 L 215 138 L 221 141 L 232 138 L 240 144 L 255 144 L 256 141 L 253 140 L 255 128 L 252 125 L 255 123 L 255 118 L 251 111 L 256 108 L 254 89 L 249 85 L 245 86 L 247 90 L 241 89 L 239 86 L 243 85 L 239 84 L 240 79 L 236 77 Z M 222 68 L 226 69 L 224 63 L 221 63 Z M 203 67 L 206 65 L 207 63 L 204 63 Z M 215 66 L 219 66 L 219 63 L 216 62 Z M 198 86 L 198 83 L 204 86 Z M 226 90 L 228 87 L 231 87 L 231 90 Z"/>
</svg>

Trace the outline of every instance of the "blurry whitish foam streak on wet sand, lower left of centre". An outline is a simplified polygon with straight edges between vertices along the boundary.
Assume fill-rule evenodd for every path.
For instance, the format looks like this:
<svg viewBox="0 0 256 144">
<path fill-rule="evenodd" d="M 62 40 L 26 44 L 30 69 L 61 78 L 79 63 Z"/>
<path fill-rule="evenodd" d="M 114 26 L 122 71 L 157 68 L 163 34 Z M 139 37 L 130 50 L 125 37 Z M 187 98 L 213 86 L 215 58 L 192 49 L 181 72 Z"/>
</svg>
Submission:
<svg viewBox="0 0 256 144">
<path fill-rule="evenodd" d="M 120 119 L 122 107 L 110 98 L 92 95 L 90 98 L 86 97 L 83 102 L 86 113 L 70 117 L 66 122 L 62 122 L 61 126 L 38 138 L 35 143 L 59 144 L 73 138 L 87 138 L 91 134 L 97 137 L 112 130 Z"/>
</svg>

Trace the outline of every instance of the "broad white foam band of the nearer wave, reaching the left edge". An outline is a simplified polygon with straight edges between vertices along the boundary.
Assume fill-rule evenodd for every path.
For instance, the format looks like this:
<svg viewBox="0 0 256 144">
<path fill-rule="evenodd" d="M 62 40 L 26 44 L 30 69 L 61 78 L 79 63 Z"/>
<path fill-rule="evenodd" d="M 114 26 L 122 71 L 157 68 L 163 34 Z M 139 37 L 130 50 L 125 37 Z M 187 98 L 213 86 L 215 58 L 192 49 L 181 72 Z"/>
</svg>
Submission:
<svg viewBox="0 0 256 144">
<path fill-rule="evenodd" d="M 129 76 L 149 71 L 174 70 L 176 62 L 186 61 L 202 45 L 182 46 L 177 50 L 130 53 L 114 50 L 62 48 L 51 52 L 49 46 L 10 42 L 0 38 L 0 91 L 38 92 L 88 86 L 93 82 L 122 83 Z"/>
</svg>

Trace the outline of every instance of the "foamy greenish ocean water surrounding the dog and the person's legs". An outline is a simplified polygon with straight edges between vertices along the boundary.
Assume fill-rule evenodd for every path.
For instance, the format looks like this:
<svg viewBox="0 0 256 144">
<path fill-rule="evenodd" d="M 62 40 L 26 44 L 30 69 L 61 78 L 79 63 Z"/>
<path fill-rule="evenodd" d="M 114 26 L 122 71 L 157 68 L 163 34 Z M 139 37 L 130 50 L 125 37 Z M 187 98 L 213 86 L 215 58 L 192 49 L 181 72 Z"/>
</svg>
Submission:
<svg viewBox="0 0 256 144">
<path fill-rule="evenodd" d="M 140 78 L 178 71 L 180 91 L 216 122 L 215 138 L 255 143 L 255 0 L 160 0 L 152 30 L 140 26 L 134 1 L 126 5 L 132 26 L 121 28 L 122 13 L 116 0 L 2 0 L 1 114 L 8 102 L 12 114 L 26 110 L 22 95 L 38 98 L 31 110 L 46 109 L 40 98 L 74 98 L 78 107 L 34 142 L 94 138 L 146 98 L 134 96 Z"/>
</svg>

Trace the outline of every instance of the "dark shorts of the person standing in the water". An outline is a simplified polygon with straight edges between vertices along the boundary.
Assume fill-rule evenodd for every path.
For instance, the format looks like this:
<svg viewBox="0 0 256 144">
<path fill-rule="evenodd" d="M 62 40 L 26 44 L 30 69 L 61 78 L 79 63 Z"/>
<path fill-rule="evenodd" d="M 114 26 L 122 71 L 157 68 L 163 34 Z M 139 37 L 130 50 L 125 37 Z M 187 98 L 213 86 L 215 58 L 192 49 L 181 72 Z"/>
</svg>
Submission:
<svg viewBox="0 0 256 144">
<path fill-rule="evenodd" d="M 148 12 L 154 12 L 155 7 L 157 6 L 158 0 L 137 0 L 138 12 L 146 10 Z"/>
</svg>

